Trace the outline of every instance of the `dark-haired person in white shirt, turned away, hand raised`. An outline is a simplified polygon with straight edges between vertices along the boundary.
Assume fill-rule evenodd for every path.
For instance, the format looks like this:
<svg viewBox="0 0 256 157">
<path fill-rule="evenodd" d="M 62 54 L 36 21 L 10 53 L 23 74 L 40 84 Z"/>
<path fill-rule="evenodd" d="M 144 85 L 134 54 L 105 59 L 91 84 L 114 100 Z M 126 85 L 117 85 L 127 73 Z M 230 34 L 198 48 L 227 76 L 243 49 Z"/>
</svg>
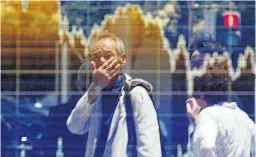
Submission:
<svg viewBox="0 0 256 157">
<path fill-rule="evenodd" d="M 205 53 L 223 51 L 211 40 L 202 40 L 192 48 L 191 68 L 202 66 Z M 194 157 L 255 157 L 255 124 L 228 99 L 230 76 L 225 65 L 209 66 L 210 72 L 195 77 L 195 94 L 186 101 L 188 118 L 196 125 Z"/>
</svg>

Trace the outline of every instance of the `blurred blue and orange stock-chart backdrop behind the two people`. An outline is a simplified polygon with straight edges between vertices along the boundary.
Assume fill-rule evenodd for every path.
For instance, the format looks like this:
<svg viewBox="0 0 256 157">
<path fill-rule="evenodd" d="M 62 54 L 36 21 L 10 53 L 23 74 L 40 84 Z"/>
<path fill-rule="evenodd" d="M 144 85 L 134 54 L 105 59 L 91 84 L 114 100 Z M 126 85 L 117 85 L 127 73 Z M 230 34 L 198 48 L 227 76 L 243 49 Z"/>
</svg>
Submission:
<svg viewBox="0 0 256 157">
<path fill-rule="evenodd" d="M 230 97 L 255 120 L 254 1 L 1 1 L 1 156 L 83 157 L 65 124 L 77 72 L 103 30 L 126 46 L 126 72 L 154 87 L 168 157 L 191 157 L 188 47 L 208 35 L 228 51 Z M 199 69 L 200 70 L 200 69 Z"/>
</svg>

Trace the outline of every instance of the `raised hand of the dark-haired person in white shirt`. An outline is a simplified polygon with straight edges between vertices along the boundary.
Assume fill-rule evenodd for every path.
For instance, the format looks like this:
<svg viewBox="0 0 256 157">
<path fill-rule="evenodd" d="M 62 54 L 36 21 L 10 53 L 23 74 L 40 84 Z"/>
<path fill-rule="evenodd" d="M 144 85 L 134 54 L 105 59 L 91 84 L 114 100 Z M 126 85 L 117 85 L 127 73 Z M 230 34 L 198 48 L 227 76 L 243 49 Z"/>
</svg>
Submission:
<svg viewBox="0 0 256 157">
<path fill-rule="evenodd" d="M 201 107 L 196 102 L 195 98 L 186 100 L 187 116 L 190 122 L 196 124 L 198 121 L 199 112 Z"/>
</svg>

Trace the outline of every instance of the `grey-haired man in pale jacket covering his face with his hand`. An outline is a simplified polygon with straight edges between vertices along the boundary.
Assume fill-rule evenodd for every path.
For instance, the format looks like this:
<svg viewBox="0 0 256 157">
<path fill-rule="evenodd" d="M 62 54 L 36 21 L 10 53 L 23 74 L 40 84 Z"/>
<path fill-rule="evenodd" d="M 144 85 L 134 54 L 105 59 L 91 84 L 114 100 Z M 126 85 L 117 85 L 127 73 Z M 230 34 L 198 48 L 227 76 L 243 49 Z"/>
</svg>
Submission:
<svg viewBox="0 0 256 157">
<path fill-rule="evenodd" d="M 108 33 L 100 35 L 91 51 L 92 83 L 67 120 L 74 134 L 88 132 L 86 157 L 129 157 L 128 125 L 124 101 L 126 64 L 123 41 Z M 142 83 L 147 83 L 142 80 Z M 129 88 L 136 131 L 138 157 L 161 157 L 157 114 L 147 89 Z"/>
</svg>

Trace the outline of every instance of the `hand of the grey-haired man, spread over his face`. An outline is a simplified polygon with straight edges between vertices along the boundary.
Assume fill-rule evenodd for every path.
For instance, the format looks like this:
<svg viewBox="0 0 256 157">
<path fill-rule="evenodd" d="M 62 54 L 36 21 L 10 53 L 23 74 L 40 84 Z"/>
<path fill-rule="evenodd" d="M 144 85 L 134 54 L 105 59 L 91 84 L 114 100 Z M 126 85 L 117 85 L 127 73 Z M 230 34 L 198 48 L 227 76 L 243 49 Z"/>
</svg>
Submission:
<svg viewBox="0 0 256 157">
<path fill-rule="evenodd" d="M 121 72 L 121 64 L 116 58 L 110 58 L 99 68 L 96 67 L 94 61 L 93 65 L 92 82 L 100 85 L 102 88 L 108 86 L 111 80 Z"/>
</svg>

